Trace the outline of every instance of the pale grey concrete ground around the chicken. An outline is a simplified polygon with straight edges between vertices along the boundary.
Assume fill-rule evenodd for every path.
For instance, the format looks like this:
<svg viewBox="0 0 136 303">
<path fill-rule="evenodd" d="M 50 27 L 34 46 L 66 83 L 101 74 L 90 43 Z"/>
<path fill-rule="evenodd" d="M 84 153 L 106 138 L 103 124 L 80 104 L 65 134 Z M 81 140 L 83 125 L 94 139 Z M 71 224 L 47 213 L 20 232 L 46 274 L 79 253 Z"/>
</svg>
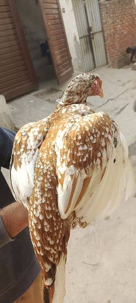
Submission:
<svg viewBox="0 0 136 303">
<path fill-rule="evenodd" d="M 97 73 L 103 80 L 104 98 L 90 97 L 88 103 L 93 110 L 109 113 L 120 125 L 136 173 L 136 113 L 132 110 L 136 71 L 104 67 Z M 55 81 L 47 86 L 59 91 L 65 88 Z M 34 96 L 35 93 L 9 103 L 16 127 L 47 116 L 57 104 L 54 96 L 49 102 L 45 100 L 46 93 L 42 98 Z M 65 303 L 135 303 L 135 284 L 136 194 L 106 220 L 94 222 L 85 230 L 72 231 Z"/>
</svg>

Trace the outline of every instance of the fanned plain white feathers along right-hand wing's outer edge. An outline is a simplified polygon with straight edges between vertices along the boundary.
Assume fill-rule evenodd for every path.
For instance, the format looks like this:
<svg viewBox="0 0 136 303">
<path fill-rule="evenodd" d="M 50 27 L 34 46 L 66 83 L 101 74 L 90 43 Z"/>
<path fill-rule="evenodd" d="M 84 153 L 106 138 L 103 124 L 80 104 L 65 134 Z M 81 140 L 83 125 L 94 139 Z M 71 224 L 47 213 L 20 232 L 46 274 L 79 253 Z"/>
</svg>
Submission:
<svg viewBox="0 0 136 303">
<path fill-rule="evenodd" d="M 76 211 L 82 222 L 91 223 L 93 219 L 109 215 L 120 203 L 124 194 L 125 199 L 133 193 L 134 177 L 127 154 L 127 146 L 121 134 L 121 146 L 113 148 L 112 157 L 109 158 L 106 171 L 101 182 L 89 199 L 90 183 L 86 195 L 83 197 L 83 209 Z M 113 160 L 116 159 L 114 163 Z M 86 202 L 88 201 L 88 202 Z"/>
</svg>

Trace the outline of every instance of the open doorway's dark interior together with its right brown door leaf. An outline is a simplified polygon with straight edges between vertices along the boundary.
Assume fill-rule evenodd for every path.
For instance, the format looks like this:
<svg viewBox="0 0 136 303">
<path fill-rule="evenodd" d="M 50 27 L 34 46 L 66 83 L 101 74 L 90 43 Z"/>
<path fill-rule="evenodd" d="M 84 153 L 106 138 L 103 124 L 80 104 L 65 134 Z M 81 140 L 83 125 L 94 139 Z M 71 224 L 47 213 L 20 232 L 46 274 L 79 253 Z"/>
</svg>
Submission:
<svg viewBox="0 0 136 303">
<path fill-rule="evenodd" d="M 49 80 L 55 75 L 58 84 L 63 83 L 72 76 L 73 65 L 59 0 L 16 0 L 16 2 L 37 76 L 44 80 L 47 77 Z M 50 58 L 47 57 L 46 61 L 45 57 L 41 58 L 44 52 L 44 48 L 41 52 L 41 43 L 43 47 L 46 46 L 46 50 L 48 44 Z M 44 43 L 46 45 L 43 45 Z"/>
</svg>

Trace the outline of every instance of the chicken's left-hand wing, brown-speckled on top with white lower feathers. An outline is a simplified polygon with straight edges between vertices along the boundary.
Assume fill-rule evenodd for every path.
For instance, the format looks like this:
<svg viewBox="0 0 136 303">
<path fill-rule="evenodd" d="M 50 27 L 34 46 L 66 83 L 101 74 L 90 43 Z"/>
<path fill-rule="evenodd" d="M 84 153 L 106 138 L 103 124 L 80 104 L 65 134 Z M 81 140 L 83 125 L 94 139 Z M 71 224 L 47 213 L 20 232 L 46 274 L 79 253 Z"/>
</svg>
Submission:
<svg viewBox="0 0 136 303">
<path fill-rule="evenodd" d="M 16 200 L 23 201 L 27 207 L 27 198 L 31 196 L 34 187 L 34 168 L 39 153 L 39 147 L 49 129 L 49 119 L 23 126 L 15 136 L 10 182 Z"/>
</svg>

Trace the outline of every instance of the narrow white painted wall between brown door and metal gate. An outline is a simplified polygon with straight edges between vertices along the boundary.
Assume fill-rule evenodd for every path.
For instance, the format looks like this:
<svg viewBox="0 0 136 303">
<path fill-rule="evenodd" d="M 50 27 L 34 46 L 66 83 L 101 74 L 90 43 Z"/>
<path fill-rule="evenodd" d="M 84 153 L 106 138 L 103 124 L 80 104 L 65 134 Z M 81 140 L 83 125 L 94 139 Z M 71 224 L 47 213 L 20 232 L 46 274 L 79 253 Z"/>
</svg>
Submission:
<svg viewBox="0 0 136 303">
<path fill-rule="evenodd" d="M 82 54 L 80 47 L 79 34 L 75 20 L 72 0 L 59 0 L 66 37 L 72 56 L 74 71 L 83 71 Z M 65 9 L 65 12 L 62 12 Z"/>
</svg>

